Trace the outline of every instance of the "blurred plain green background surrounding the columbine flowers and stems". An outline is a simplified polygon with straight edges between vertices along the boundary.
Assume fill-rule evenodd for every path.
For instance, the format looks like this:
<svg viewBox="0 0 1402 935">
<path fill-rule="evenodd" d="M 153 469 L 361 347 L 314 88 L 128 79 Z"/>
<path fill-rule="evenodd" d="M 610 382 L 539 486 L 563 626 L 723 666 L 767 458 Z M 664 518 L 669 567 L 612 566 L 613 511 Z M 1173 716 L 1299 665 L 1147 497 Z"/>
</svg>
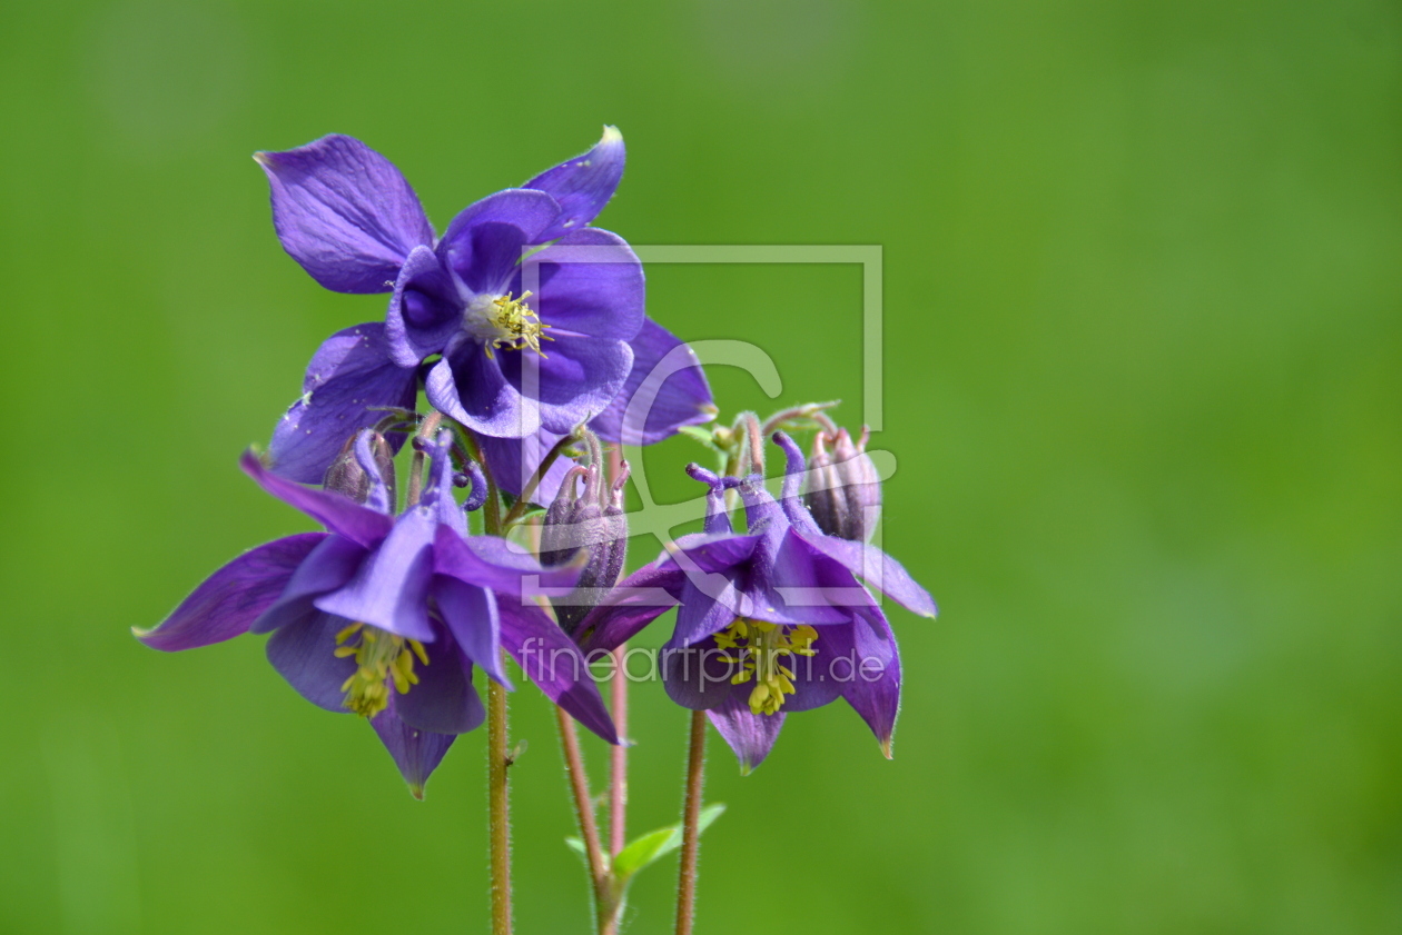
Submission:
<svg viewBox="0 0 1402 935">
<path fill-rule="evenodd" d="M 421 805 L 258 639 L 128 628 L 310 528 L 236 458 L 383 314 L 282 252 L 250 154 L 355 135 L 442 228 L 606 122 L 634 243 L 885 248 L 885 544 L 942 608 L 892 608 L 894 761 L 841 704 L 744 779 L 712 737 L 698 932 L 1402 931 L 1402 14 L 1364 0 L 6 4 L 0 931 L 486 931 L 479 733 Z M 861 421 L 858 268 L 659 265 L 649 308 L 774 357 L 728 414 Z M 513 712 L 519 931 L 582 932 Z M 635 830 L 684 732 L 635 692 Z"/>
</svg>

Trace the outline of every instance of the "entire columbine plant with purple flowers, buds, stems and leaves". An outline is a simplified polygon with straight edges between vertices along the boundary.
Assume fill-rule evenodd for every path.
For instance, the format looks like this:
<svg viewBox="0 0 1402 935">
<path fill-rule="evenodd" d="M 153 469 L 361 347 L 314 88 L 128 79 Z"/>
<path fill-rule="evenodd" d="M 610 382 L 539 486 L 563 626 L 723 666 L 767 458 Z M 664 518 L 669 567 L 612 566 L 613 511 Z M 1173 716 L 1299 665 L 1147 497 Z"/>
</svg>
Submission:
<svg viewBox="0 0 1402 935">
<path fill-rule="evenodd" d="M 592 226 L 624 156 L 604 128 L 583 154 L 470 205 L 439 236 L 400 171 L 356 139 L 258 153 L 287 254 L 325 289 L 386 293 L 384 320 L 327 338 L 266 451 L 240 461 L 321 530 L 244 552 L 136 631 L 160 650 L 266 635 L 278 674 L 318 708 L 367 721 L 415 798 L 457 737 L 485 725 L 494 935 L 512 929 L 516 681 L 554 705 L 594 931 L 617 932 L 635 875 L 680 849 L 676 931 L 687 935 L 700 834 L 722 810 L 701 800 L 708 725 L 750 772 L 788 715 L 841 698 L 890 757 L 901 670 L 880 596 L 935 614 L 871 544 L 880 474 L 866 430 L 854 440 L 833 423 L 834 404 L 707 426 L 718 409 L 698 357 L 648 315 L 628 244 Z M 789 432 L 813 433 L 809 461 Z M 620 580 L 642 464 L 620 449 L 677 433 L 716 465 L 687 467 L 705 485 L 695 516 L 673 510 L 649 528 L 702 514 L 704 528 L 659 533 L 662 554 Z M 765 488 L 767 442 L 784 453 L 778 496 Z M 691 712 L 684 810 L 628 841 L 622 662 L 673 608 L 656 673 Z M 610 744 L 607 835 L 576 723 Z"/>
</svg>

